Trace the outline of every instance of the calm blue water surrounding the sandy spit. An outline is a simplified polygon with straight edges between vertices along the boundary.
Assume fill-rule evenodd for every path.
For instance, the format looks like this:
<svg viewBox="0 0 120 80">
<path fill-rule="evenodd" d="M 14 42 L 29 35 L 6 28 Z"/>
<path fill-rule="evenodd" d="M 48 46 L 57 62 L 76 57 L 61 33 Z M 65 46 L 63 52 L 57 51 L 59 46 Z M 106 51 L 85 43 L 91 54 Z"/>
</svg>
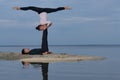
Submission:
<svg viewBox="0 0 120 80">
<path fill-rule="evenodd" d="M 23 47 L 0 47 L 20 52 Z M 32 49 L 32 47 L 30 47 Z M 55 53 L 104 56 L 102 61 L 31 64 L 0 61 L 0 80 L 120 80 L 120 46 L 49 46 Z"/>
</svg>

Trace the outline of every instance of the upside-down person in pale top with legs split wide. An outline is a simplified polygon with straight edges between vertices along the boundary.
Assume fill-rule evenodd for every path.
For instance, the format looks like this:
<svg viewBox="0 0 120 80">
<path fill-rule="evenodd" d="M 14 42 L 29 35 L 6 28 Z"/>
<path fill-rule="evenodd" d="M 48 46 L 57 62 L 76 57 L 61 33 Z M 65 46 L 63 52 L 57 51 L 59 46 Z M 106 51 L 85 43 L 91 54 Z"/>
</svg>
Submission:
<svg viewBox="0 0 120 80">
<path fill-rule="evenodd" d="M 39 8 L 34 6 L 28 6 L 28 7 L 13 7 L 15 10 L 32 10 L 37 12 L 40 15 L 40 25 L 36 27 L 37 30 L 45 30 L 48 27 L 52 25 L 51 21 L 48 21 L 47 14 L 60 11 L 60 10 L 70 10 L 71 8 L 69 6 L 65 7 L 58 7 L 58 8 Z"/>
</svg>

